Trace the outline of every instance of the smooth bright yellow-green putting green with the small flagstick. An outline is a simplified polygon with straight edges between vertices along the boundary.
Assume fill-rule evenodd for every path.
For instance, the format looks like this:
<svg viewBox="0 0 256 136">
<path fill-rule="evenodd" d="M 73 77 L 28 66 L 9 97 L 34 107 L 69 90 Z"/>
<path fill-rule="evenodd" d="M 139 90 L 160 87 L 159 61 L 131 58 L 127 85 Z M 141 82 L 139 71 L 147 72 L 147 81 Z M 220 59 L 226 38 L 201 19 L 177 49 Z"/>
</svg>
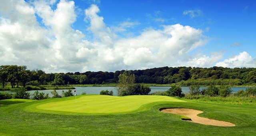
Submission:
<svg viewBox="0 0 256 136">
<path fill-rule="evenodd" d="M 56 100 L 56 99 L 55 99 Z M 63 99 L 63 101 L 47 101 L 34 106 L 42 111 L 76 112 L 89 114 L 132 112 L 140 106 L 152 102 L 184 102 L 174 97 L 156 95 L 133 95 L 116 97 L 108 95 L 81 96 L 76 100 L 74 97 Z M 30 111 L 33 110 L 30 108 Z M 51 112 L 52 113 L 52 112 Z M 57 112 L 55 112 L 57 113 Z M 61 113 L 60 113 L 61 114 Z"/>
</svg>

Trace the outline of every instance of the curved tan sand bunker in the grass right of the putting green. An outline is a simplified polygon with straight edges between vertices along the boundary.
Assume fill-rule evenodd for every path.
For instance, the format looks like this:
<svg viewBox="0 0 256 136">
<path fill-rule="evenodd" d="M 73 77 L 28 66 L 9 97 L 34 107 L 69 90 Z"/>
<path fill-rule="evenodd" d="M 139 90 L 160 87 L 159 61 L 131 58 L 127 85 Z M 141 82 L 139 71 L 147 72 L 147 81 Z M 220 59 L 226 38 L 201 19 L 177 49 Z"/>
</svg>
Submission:
<svg viewBox="0 0 256 136">
<path fill-rule="evenodd" d="M 230 122 L 224 122 L 224 121 L 199 117 L 197 116 L 197 114 L 203 113 L 200 110 L 193 110 L 189 108 L 162 108 L 160 109 L 160 111 L 165 113 L 172 113 L 172 114 L 187 116 L 191 119 L 188 121 L 199 123 L 199 124 L 213 125 L 213 126 L 235 126 L 235 124 L 232 124 Z"/>
</svg>

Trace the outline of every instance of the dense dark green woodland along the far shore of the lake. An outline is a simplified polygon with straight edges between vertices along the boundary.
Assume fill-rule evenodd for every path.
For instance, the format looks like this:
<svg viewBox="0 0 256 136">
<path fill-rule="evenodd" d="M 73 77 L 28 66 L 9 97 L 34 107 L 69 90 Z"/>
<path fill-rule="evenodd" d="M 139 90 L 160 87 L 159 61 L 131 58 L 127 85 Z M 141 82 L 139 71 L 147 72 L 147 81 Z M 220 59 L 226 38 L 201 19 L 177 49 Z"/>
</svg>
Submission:
<svg viewBox="0 0 256 136">
<path fill-rule="evenodd" d="M 118 76 L 125 70 L 116 72 L 45 73 L 42 70 L 28 70 L 26 66 L 0 66 L 2 87 L 11 85 L 75 85 L 117 83 Z M 177 85 L 256 85 L 256 68 L 224 67 L 159 67 L 132 70 L 135 83 L 156 83 Z"/>
</svg>

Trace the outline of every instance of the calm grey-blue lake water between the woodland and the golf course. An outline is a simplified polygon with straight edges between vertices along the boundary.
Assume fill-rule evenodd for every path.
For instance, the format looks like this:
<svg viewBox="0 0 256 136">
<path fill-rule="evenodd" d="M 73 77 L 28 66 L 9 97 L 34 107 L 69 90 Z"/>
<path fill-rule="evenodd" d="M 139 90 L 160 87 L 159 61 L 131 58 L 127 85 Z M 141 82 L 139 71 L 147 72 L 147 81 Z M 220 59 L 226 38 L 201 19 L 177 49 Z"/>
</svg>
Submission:
<svg viewBox="0 0 256 136">
<path fill-rule="evenodd" d="M 117 90 L 116 87 L 75 87 L 76 88 L 76 94 L 77 95 L 81 95 L 81 93 L 86 92 L 87 95 L 99 95 L 100 91 L 102 90 L 112 90 L 114 92 L 114 95 L 117 95 Z M 162 87 L 155 87 L 155 86 L 150 86 L 151 89 L 151 93 L 152 92 L 156 92 L 156 91 L 166 91 L 167 89 L 169 89 L 169 86 L 162 86 Z M 189 87 L 181 87 L 182 88 L 182 92 L 183 93 L 188 93 L 189 92 Z M 200 87 L 200 89 L 206 89 L 207 87 Z M 232 87 L 231 89 L 233 90 L 233 92 L 237 92 L 241 89 L 245 90 L 249 87 Z M 30 94 L 34 93 L 36 90 L 33 91 L 27 91 Z M 53 90 L 39 90 L 39 92 L 44 92 L 44 93 L 48 93 L 49 97 L 52 96 L 51 91 Z M 59 94 L 62 93 L 62 90 L 56 90 Z M 64 89 L 64 91 L 66 91 Z M 14 91 L 4 91 L 6 93 L 14 93 Z"/>
</svg>

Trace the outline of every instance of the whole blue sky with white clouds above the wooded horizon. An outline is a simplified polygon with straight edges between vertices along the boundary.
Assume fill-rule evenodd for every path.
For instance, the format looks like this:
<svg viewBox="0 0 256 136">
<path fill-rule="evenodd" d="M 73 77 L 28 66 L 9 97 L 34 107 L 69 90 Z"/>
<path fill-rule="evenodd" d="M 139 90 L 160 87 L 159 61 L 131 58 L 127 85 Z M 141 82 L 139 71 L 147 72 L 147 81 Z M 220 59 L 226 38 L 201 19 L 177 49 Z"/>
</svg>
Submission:
<svg viewBox="0 0 256 136">
<path fill-rule="evenodd" d="M 0 0 L 0 65 L 256 67 L 255 0 Z"/>
</svg>

